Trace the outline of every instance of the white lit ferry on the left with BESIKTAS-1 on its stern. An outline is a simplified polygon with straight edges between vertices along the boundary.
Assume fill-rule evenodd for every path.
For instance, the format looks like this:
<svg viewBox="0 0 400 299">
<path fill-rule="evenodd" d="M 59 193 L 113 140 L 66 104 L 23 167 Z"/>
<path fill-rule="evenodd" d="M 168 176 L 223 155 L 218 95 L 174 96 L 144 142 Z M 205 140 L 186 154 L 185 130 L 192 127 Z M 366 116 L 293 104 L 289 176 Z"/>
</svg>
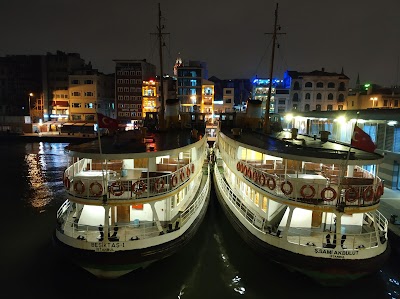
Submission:
<svg viewBox="0 0 400 299">
<path fill-rule="evenodd" d="M 67 146 L 68 199 L 54 236 L 59 252 L 99 278 L 117 278 L 184 247 L 209 203 L 202 137 L 197 130 L 142 128 L 102 137 L 101 145 Z"/>
</svg>

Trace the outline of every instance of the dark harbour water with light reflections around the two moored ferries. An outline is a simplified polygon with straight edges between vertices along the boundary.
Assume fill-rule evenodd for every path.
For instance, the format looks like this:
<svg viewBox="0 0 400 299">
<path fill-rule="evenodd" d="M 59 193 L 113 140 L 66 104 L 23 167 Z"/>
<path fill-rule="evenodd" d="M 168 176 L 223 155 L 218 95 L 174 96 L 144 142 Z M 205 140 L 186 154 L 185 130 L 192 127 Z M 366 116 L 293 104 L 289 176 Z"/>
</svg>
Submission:
<svg viewBox="0 0 400 299">
<path fill-rule="evenodd" d="M 65 200 L 66 145 L 0 143 L 0 282 L 7 298 L 400 298 L 398 256 L 345 288 L 319 286 L 260 260 L 233 231 L 213 193 L 204 223 L 184 250 L 145 270 L 100 281 L 52 248 L 56 211 Z"/>
</svg>

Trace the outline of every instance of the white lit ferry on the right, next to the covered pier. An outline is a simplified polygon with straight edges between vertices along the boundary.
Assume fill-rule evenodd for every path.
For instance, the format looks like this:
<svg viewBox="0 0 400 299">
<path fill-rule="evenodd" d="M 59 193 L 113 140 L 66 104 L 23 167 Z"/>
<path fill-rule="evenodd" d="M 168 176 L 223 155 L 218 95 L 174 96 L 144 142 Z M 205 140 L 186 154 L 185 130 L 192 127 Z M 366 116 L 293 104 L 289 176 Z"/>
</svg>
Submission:
<svg viewBox="0 0 400 299">
<path fill-rule="evenodd" d="M 297 129 L 260 129 L 260 101 L 241 126 L 220 123 L 213 152 L 218 201 L 235 230 L 261 256 L 322 285 L 377 272 L 390 254 L 383 156 Z M 279 128 L 279 125 L 270 127 Z"/>
</svg>

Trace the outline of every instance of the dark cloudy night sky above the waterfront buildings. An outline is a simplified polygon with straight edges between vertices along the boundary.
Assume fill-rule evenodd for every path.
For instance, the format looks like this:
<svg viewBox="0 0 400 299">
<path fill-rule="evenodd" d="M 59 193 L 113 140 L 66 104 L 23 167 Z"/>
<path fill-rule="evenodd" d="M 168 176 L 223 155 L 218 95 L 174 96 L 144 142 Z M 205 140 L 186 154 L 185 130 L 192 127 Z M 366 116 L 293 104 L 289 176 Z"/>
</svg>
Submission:
<svg viewBox="0 0 400 299">
<path fill-rule="evenodd" d="M 155 35 L 161 3 L 164 72 L 183 60 L 207 62 L 220 79 L 267 77 L 277 1 L 1 0 L 0 56 L 80 53 L 104 73 L 113 59 L 158 66 Z M 399 84 L 400 0 L 278 1 L 280 47 L 275 76 L 325 68 L 361 83 Z"/>
</svg>

